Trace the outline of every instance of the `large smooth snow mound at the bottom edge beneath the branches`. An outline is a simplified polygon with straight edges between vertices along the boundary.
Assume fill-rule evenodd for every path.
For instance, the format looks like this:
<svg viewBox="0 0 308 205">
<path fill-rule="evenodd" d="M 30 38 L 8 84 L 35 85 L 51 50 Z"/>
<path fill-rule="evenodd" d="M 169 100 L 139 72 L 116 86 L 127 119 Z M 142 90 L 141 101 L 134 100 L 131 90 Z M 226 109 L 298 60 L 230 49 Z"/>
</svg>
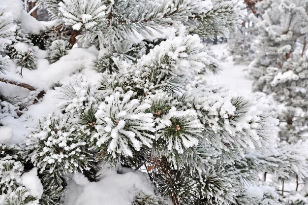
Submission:
<svg viewBox="0 0 308 205">
<path fill-rule="evenodd" d="M 125 171 L 125 170 L 119 170 Z M 65 205 L 131 205 L 140 192 L 154 195 L 154 185 L 140 171 L 119 174 L 104 167 L 98 172 L 102 178 L 89 182 L 81 173 L 73 174 L 66 187 Z M 120 191 L 121 190 L 121 191 Z"/>
</svg>

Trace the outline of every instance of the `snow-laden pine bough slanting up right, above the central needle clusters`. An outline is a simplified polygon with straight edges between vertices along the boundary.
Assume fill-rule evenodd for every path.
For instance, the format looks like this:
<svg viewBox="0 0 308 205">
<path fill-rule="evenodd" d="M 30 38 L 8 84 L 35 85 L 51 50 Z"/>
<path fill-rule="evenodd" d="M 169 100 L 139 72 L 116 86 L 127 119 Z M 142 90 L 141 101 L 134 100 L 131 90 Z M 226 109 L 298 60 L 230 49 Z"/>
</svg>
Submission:
<svg viewBox="0 0 308 205">
<path fill-rule="evenodd" d="M 141 89 L 183 88 L 197 73 L 215 69 L 216 62 L 203 51 L 200 41 L 198 35 L 170 37 L 140 58 L 132 72 L 144 80 Z"/>
</svg>

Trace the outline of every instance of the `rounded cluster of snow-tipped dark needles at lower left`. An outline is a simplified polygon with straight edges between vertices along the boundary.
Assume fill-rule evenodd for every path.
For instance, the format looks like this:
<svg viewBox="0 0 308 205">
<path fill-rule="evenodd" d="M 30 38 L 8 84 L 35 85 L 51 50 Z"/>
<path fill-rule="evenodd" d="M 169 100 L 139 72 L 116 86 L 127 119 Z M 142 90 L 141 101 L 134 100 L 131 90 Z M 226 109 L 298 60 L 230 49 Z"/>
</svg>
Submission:
<svg viewBox="0 0 308 205">
<path fill-rule="evenodd" d="M 84 147 L 86 142 L 65 117 L 49 115 L 26 141 L 27 159 L 40 171 L 77 172 L 90 169 Z"/>
</svg>

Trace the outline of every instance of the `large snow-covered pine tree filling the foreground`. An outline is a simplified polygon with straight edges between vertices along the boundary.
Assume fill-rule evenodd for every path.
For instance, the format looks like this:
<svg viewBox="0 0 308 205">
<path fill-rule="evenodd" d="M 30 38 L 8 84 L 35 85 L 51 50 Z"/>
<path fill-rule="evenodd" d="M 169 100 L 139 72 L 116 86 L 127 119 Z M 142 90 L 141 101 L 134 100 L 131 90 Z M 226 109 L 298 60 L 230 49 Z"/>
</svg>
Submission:
<svg viewBox="0 0 308 205">
<path fill-rule="evenodd" d="M 295 150 L 277 146 L 278 121 L 265 95 L 191 83 L 217 71 L 204 39 L 237 30 L 246 15 L 241 1 L 43 3 L 72 34 L 71 47 L 76 37 L 77 46 L 100 49 L 93 67 L 102 80 L 95 84 L 80 74 L 55 88 L 62 114 L 40 121 L 16 151 L 16 174 L 12 180 L 3 175 L 14 190 L 7 199 L 63 204 L 69 173 L 97 181 L 99 167 L 108 164 L 148 173 L 155 192 L 135 190 L 132 205 L 275 205 L 282 203 L 275 191 L 255 197 L 246 185 L 257 185 L 261 171 L 281 180 L 307 175 L 306 158 L 299 157 L 301 142 Z M 21 48 L 29 53 L 29 37 L 18 31 L 11 53 Z M 67 46 L 60 37 L 47 46 L 50 62 L 65 55 Z M 33 198 L 18 184 L 25 164 L 39 172 L 41 197 Z"/>
</svg>

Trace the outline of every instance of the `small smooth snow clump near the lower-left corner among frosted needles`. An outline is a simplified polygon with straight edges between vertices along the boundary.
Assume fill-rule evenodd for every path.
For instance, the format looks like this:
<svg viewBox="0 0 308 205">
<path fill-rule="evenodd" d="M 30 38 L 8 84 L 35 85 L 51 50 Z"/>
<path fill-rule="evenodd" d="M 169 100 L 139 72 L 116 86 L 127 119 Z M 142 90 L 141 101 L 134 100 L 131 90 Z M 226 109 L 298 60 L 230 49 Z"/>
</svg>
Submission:
<svg viewBox="0 0 308 205">
<path fill-rule="evenodd" d="M 40 199 L 43 194 L 43 185 L 37 176 L 37 168 L 26 172 L 21 177 L 22 184 L 28 188 L 30 194 Z"/>
</svg>

